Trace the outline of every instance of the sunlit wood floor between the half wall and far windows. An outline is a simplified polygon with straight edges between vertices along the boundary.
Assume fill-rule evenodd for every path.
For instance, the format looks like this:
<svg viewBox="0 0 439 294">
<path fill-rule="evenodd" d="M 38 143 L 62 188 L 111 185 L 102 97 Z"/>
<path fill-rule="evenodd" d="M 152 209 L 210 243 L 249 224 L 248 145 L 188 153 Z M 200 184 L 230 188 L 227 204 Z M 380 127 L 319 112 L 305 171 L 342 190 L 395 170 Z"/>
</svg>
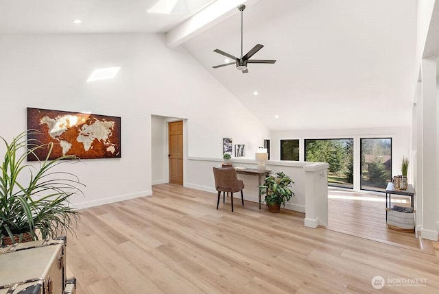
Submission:
<svg viewBox="0 0 439 294">
<path fill-rule="evenodd" d="M 410 197 L 392 195 L 392 206 L 410 207 Z M 385 196 L 328 191 L 328 229 L 384 243 L 419 248 L 414 233 L 390 230 L 385 223 Z"/>
</svg>

